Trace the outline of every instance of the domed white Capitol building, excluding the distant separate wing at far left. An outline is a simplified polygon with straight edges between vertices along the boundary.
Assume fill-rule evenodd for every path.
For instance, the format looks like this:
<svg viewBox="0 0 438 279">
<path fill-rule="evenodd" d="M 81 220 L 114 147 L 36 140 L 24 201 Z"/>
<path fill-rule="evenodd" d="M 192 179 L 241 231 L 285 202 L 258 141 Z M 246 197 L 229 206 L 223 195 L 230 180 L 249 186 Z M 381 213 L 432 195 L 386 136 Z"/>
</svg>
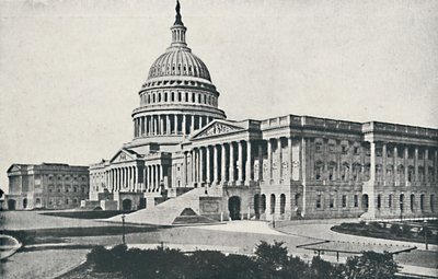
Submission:
<svg viewBox="0 0 438 279">
<path fill-rule="evenodd" d="M 219 106 L 227 92 L 186 31 L 177 4 L 171 45 L 138 93 L 134 138 L 90 166 L 87 202 L 169 223 L 187 209 L 215 220 L 436 216 L 437 129 L 299 115 L 228 119 Z"/>
</svg>

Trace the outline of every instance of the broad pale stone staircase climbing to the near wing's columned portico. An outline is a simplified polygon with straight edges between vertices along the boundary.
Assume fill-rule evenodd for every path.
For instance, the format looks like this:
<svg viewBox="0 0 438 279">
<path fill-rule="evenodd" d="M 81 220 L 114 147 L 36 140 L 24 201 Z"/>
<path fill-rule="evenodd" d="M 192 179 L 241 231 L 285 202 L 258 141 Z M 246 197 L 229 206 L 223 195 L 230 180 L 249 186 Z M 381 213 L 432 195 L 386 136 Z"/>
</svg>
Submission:
<svg viewBox="0 0 438 279">
<path fill-rule="evenodd" d="M 199 214 L 199 197 L 205 195 L 205 188 L 194 188 L 176 198 L 168 199 L 166 201 L 151 208 L 146 208 L 127 214 L 125 221 L 127 223 L 148 223 L 171 225 L 175 218 L 186 208 L 191 208 Z M 119 221 L 120 217 L 116 216 L 108 221 Z"/>
</svg>

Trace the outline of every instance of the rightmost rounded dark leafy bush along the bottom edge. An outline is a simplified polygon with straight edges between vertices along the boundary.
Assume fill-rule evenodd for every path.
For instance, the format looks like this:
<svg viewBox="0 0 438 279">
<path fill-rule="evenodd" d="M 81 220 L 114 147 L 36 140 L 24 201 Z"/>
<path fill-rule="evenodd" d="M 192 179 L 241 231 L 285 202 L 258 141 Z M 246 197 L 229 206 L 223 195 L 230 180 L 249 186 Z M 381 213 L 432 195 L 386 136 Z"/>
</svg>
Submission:
<svg viewBox="0 0 438 279">
<path fill-rule="evenodd" d="M 347 258 L 345 265 L 339 266 L 332 278 L 355 278 L 355 279 L 392 279 L 400 266 L 394 261 L 392 254 L 388 252 L 376 253 L 364 252 L 361 256 Z"/>
</svg>

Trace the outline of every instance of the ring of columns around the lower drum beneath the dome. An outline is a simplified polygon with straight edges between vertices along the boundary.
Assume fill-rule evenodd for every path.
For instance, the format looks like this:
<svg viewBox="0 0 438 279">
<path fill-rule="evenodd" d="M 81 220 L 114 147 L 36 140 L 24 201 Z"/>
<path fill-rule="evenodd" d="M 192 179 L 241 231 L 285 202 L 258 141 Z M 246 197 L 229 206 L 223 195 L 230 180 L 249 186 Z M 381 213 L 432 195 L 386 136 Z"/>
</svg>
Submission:
<svg viewBox="0 0 438 279">
<path fill-rule="evenodd" d="M 134 119 L 134 137 L 188 135 L 212 120 L 212 116 L 189 114 L 140 116 Z"/>
</svg>

